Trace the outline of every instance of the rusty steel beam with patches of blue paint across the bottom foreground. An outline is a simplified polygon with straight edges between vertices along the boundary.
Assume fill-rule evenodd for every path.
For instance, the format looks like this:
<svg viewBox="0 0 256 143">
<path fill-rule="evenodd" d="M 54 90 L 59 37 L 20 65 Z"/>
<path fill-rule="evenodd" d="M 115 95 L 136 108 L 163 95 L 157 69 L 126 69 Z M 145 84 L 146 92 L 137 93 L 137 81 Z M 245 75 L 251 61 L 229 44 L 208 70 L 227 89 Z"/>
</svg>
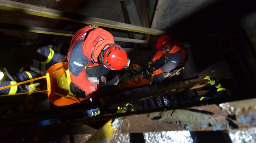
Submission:
<svg viewBox="0 0 256 143">
<path fill-rule="evenodd" d="M 201 105 L 140 114 L 139 111 L 78 119 L 69 124 L 87 124 L 113 119 L 114 134 L 172 130 L 213 131 L 256 127 L 256 99 Z M 66 124 L 64 123 L 63 126 Z M 61 126 L 61 124 L 59 124 Z M 51 128 L 48 126 L 48 129 Z"/>
</svg>

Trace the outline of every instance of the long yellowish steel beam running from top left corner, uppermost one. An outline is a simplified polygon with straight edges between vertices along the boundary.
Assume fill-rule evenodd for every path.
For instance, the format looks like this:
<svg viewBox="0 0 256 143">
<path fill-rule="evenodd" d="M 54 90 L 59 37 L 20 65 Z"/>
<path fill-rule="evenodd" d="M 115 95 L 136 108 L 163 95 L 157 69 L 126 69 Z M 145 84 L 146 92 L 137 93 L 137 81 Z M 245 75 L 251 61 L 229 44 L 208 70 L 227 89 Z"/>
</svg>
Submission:
<svg viewBox="0 0 256 143">
<path fill-rule="evenodd" d="M 77 23 L 85 23 L 85 24 L 91 24 L 95 26 L 109 27 L 113 29 L 121 29 L 121 30 L 138 32 L 143 34 L 152 34 L 152 35 L 167 34 L 167 32 L 157 30 L 157 29 L 150 29 L 147 27 L 141 27 L 141 26 L 121 23 L 117 21 L 100 19 L 96 17 L 88 17 L 84 15 L 70 15 L 63 11 L 58 11 L 50 8 L 43 8 L 40 6 L 31 5 L 31 4 L 24 4 L 21 2 L 15 2 L 11 0 L 1 0 L 0 9 L 5 11 L 16 11 L 16 12 L 25 13 L 28 15 L 48 17 L 52 19 L 72 21 Z"/>
</svg>

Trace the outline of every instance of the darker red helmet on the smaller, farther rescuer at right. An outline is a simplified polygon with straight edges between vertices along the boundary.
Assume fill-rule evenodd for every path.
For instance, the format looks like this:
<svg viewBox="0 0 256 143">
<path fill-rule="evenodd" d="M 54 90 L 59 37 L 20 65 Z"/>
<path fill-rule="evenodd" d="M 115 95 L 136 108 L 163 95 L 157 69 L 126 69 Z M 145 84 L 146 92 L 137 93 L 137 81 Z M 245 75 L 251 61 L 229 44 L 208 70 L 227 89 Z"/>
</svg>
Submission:
<svg viewBox="0 0 256 143">
<path fill-rule="evenodd" d="M 161 36 L 156 42 L 156 48 L 158 50 L 166 50 L 168 48 L 171 48 L 173 46 L 172 41 L 173 40 L 168 35 Z"/>
</svg>

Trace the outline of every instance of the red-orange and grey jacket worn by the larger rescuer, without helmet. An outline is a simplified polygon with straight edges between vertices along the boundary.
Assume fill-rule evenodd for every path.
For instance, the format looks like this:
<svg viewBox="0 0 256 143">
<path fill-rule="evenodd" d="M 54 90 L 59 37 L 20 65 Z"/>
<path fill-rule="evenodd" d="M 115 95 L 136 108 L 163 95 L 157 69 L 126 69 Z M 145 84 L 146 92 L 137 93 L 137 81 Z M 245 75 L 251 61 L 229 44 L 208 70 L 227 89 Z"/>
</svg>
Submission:
<svg viewBox="0 0 256 143">
<path fill-rule="evenodd" d="M 100 65 L 101 50 L 105 45 L 115 43 L 113 36 L 102 28 L 93 29 L 85 39 L 90 29 L 93 27 L 85 26 L 76 32 L 67 53 L 71 81 L 87 94 L 96 91 L 98 84 L 96 79 L 87 78 L 85 68 Z"/>
</svg>

